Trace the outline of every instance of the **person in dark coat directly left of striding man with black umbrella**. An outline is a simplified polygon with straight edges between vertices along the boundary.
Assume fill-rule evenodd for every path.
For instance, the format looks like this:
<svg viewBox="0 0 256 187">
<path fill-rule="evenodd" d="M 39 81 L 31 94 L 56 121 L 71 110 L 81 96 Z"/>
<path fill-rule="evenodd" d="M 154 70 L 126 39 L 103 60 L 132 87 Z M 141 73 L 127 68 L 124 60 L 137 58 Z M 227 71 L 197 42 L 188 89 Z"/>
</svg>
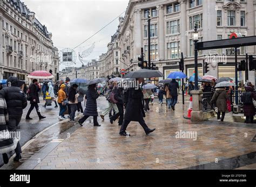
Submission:
<svg viewBox="0 0 256 187">
<path fill-rule="evenodd" d="M 113 121 L 119 117 L 118 125 L 122 125 L 124 121 L 124 93 L 123 88 L 114 88 L 114 99 L 118 101 L 118 113 L 114 114 L 114 116 L 110 117 L 110 123 L 113 124 Z"/>
</svg>

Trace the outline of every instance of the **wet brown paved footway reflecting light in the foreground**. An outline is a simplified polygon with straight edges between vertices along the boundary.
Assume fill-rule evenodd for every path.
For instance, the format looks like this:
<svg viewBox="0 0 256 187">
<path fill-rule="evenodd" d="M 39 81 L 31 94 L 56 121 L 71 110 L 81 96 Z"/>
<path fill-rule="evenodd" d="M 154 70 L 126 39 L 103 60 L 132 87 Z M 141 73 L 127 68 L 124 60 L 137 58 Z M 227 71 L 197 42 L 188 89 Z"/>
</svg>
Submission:
<svg viewBox="0 0 256 187">
<path fill-rule="evenodd" d="M 131 122 L 131 136 L 120 136 L 117 121 L 110 124 L 107 115 L 105 121 L 98 117 L 102 126 L 87 120 L 83 127 L 71 127 L 70 136 L 65 128 L 18 169 L 256 169 L 256 143 L 251 142 L 255 124 L 192 123 L 183 118 L 187 101 L 184 106 L 180 101 L 175 111 L 156 102 L 145 118 L 156 128 L 150 135 Z M 100 110 L 107 105 L 103 97 L 98 103 Z"/>
</svg>

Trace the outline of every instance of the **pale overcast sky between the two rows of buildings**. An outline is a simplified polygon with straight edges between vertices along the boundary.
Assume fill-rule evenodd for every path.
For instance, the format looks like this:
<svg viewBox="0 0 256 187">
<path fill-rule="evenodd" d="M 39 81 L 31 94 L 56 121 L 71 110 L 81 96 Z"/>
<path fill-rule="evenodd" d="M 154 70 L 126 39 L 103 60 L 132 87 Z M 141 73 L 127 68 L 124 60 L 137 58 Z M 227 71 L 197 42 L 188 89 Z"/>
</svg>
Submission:
<svg viewBox="0 0 256 187">
<path fill-rule="evenodd" d="M 63 48 L 73 48 L 96 33 L 100 28 L 126 10 L 129 0 L 23 0 L 30 11 L 36 13 L 36 18 L 52 33 L 53 44 L 59 51 Z M 124 14 L 123 14 L 124 16 Z M 83 52 L 95 42 L 95 48 L 87 60 L 97 57 L 107 51 L 107 43 L 111 40 L 118 26 L 118 19 L 99 32 L 95 37 L 85 42 L 76 51 Z M 65 66 L 60 66 L 62 70 Z"/>
</svg>

